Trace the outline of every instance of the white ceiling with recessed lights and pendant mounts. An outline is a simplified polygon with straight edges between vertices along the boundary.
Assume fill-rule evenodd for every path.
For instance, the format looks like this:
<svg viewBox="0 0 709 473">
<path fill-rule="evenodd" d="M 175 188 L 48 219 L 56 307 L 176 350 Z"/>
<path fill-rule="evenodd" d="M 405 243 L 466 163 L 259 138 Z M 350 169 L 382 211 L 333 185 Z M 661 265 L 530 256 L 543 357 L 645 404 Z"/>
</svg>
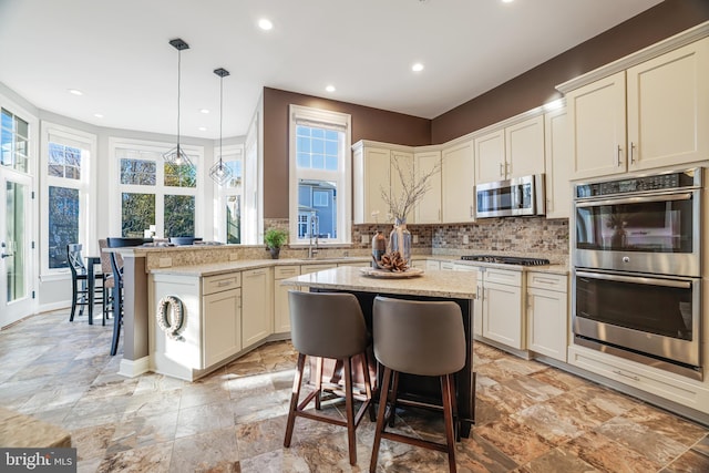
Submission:
<svg viewBox="0 0 709 473">
<path fill-rule="evenodd" d="M 216 68 L 225 137 L 264 86 L 433 119 L 659 2 L 0 0 L 0 82 L 82 122 L 175 134 L 182 38 L 182 135 L 218 137 Z"/>
</svg>

